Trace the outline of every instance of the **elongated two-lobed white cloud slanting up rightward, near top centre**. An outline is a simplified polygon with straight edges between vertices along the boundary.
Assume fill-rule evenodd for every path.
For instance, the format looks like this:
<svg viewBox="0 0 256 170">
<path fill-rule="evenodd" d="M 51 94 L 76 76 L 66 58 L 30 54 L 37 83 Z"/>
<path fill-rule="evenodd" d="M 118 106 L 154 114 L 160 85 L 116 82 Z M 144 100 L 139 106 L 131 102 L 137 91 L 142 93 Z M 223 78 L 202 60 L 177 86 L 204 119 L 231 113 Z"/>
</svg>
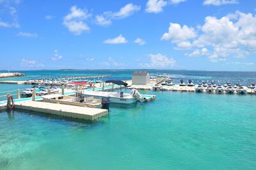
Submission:
<svg viewBox="0 0 256 170">
<path fill-rule="evenodd" d="M 138 5 L 129 3 L 120 8 L 118 12 L 104 12 L 102 15 L 96 15 L 95 20 L 100 26 L 109 26 L 113 19 L 124 19 L 129 17 L 133 13 L 138 12 L 140 8 L 141 7 Z"/>
</svg>

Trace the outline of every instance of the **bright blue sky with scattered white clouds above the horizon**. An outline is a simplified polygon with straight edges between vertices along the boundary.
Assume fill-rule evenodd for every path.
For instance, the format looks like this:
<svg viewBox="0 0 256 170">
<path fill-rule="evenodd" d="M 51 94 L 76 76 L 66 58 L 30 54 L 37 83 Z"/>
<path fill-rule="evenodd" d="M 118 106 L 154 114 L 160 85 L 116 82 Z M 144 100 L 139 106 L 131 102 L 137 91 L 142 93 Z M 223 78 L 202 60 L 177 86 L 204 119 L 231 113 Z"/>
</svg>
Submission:
<svg viewBox="0 0 256 170">
<path fill-rule="evenodd" d="M 256 71 L 256 1 L 0 0 L 0 70 Z"/>
</svg>

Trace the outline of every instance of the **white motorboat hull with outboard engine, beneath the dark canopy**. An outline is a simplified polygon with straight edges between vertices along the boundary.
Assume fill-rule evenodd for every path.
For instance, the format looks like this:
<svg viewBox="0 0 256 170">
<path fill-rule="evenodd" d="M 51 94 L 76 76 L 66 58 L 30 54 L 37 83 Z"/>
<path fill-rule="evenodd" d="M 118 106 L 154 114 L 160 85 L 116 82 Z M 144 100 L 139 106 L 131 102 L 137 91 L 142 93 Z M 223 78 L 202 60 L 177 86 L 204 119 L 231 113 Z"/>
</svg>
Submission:
<svg viewBox="0 0 256 170">
<path fill-rule="evenodd" d="M 132 89 L 131 93 L 108 92 L 108 91 L 86 91 L 78 93 L 81 97 L 109 98 L 111 103 L 133 104 L 135 102 L 145 102 L 146 98 L 138 90 Z"/>
</svg>

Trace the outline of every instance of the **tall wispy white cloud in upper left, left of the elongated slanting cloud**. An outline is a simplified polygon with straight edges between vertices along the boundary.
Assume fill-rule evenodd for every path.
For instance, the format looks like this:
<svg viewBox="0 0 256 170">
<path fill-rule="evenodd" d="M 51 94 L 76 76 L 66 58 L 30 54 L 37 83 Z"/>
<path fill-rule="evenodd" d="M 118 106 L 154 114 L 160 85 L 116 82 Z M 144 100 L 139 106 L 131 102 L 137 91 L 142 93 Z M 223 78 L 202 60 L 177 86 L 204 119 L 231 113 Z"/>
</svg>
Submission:
<svg viewBox="0 0 256 170">
<path fill-rule="evenodd" d="M 82 10 L 81 8 L 77 8 L 77 6 L 72 6 L 70 13 L 64 17 L 63 24 L 74 35 L 81 35 L 83 31 L 90 30 L 90 27 L 84 20 L 88 19 L 91 15 L 88 10 Z"/>
</svg>

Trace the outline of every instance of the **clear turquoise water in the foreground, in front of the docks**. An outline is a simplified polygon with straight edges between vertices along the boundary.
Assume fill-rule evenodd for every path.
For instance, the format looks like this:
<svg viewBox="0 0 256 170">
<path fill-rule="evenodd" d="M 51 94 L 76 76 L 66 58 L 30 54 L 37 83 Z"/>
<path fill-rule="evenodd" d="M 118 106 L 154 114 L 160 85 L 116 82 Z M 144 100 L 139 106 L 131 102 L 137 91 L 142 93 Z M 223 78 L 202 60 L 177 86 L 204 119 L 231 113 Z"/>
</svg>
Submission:
<svg viewBox="0 0 256 170">
<path fill-rule="evenodd" d="M 255 169 L 256 96 L 143 91 L 94 123 L 0 112 L 0 169 Z"/>
</svg>

